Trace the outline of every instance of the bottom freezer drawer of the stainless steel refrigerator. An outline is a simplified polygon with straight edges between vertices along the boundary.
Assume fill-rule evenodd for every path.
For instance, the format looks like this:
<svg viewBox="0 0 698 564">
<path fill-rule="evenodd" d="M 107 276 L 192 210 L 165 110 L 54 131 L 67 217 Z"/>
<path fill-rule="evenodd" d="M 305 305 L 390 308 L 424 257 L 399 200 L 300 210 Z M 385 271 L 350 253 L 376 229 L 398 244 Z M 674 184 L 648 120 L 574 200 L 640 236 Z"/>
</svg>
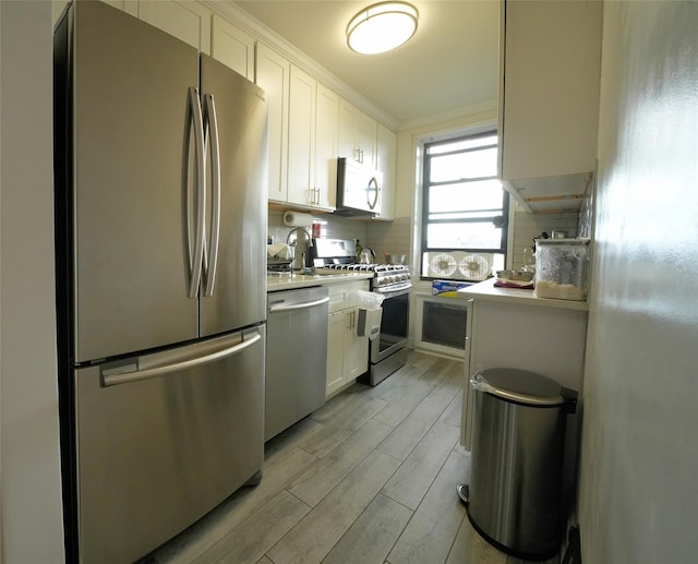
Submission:
<svg viewBox="0 0 698 564">
<path fill-rule="evenodd" d="M 75 371 L 82 562 L 133 562 L 261 469 L 265 337 L 260 325 Z"/>
</svg>

